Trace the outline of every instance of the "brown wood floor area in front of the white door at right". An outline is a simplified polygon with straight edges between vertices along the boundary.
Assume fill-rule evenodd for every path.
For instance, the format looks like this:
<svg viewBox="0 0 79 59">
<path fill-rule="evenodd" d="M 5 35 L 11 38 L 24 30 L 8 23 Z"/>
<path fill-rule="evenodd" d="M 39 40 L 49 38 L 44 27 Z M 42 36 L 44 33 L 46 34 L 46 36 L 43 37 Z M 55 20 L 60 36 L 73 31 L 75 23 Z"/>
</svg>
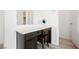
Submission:
<svg viewBox="0 0 79 59">
<path fill-rule="evenodd" d="M 71 40 L 59 38 L 59 46 L 63 49 L 77 49 Z"/>
</svg>

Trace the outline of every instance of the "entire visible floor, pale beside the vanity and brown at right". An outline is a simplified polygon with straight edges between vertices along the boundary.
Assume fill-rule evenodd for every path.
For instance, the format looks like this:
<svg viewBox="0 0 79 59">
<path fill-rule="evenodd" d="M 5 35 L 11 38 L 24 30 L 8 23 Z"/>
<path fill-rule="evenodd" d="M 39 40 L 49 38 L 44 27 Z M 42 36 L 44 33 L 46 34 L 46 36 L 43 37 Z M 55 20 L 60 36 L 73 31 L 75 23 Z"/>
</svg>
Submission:
<svg viewBox="0 0 79 59">
<path fill-rule="evenodd" d="M 39 45 L 39 49 L 42 49 Z M 0 49 L 3 49 L 3 44 L 0 44 Z M 59 46 L 49 44 L 49 47 L 45 45 L 45 49 L 77 49 L 77 47 L 72 43 L 71 40 L 59 38 Z"/>
</svg>

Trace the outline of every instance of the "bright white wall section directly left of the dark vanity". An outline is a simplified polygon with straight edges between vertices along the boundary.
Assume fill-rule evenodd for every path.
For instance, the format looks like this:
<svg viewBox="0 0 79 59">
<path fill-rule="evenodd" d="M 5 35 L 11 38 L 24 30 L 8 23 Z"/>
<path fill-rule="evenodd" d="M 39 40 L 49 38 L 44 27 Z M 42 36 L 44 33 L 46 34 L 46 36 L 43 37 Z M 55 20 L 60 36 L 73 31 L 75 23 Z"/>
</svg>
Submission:
<svg viewBox="0 0 79 59">
<path fill-rule="evenodd" d="M 16 24 L 17 24 L 16 11 L 6 10 L 4 48 L 8 49 L 16 48 Z"/>
</svg>

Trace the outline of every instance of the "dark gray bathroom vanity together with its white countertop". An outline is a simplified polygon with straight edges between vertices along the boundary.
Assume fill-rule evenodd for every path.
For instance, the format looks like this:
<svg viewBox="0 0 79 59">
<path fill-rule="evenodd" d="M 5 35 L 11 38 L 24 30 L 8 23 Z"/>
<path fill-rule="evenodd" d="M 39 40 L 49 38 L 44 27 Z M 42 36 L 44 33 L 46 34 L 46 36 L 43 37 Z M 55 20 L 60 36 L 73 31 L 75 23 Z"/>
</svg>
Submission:
<svg viewBox="0 0 79 59">
<path fill-rule="evenodd" d="M 51 43 L 51 26 L 47 25 L 20 25 L 16 31 L 17 49 L 37 49 L 37 39 L 41 30 L 48 29 L 49 43 Z"/>
</svg>

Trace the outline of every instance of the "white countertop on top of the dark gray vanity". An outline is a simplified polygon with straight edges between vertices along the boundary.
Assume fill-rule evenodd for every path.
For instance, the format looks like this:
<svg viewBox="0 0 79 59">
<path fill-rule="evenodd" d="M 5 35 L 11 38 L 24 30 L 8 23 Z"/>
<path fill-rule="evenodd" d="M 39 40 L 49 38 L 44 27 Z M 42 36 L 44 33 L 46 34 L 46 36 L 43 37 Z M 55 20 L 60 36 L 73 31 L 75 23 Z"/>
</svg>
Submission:
<svg viewBox="0 0 79 59">
<path fill-rule="evenodd" d="M 35 32 L 35 31 L 39 31 L 39 30 L 43 30 L 45 28 L 51 28 L 51 25 L 18 25 L 16 32 L 19 32 L 21 34 L 27 34 L 30 32 Z"/>
</svg>

